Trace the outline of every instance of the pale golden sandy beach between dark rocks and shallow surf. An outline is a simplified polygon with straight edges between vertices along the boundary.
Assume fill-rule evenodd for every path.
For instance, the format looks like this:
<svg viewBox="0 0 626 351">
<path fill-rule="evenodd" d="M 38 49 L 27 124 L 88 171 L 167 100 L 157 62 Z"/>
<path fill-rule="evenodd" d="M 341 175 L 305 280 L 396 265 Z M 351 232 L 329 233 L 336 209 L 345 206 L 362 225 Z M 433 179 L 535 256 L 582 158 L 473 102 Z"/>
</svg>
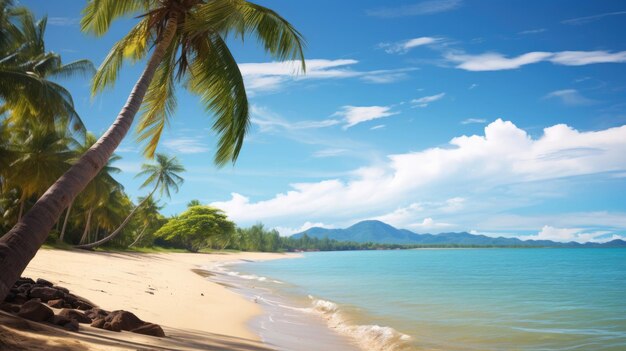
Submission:
<svg viewBox="0 0 626 351">
<path fill-rule="evenodd" d="M 294 257 L 275 253 L 114 253 L 40 250 L 24 276 L 44 278 L 105 310 L 124 309 L 161 325 L 165 338 L 81 324 L 79 333 L 0 315 L 0 349 L 271 350 L 248 322 L 253 301 L 198 274 L 202 266 Z"/>
</svg>

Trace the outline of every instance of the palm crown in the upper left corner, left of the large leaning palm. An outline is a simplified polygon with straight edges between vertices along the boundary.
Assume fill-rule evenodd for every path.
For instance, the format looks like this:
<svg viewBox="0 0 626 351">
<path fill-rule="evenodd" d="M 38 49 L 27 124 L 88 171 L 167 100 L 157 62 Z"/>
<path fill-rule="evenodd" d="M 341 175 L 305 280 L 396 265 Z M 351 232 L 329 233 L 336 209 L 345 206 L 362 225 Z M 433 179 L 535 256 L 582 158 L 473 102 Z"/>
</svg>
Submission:
<svg viewBox="0 0 626 351">
<path fill-rule="evenodd" d="M 36 21 L 24 8 L 9 8 L 0 15 L 0 26 L 5 28 L 0 43 L 0 98 L 4 100 L 1 110 L 9 111 L 8 121 L 12 124 L 36 119 L 54 129 L 58 122 L 71 122 L 75 130 L 84 131 L 72 96 L 52 79 L 92 74 L 94 66 L 88 60 L 63 64 L 58 54 L 47 52 L 46 24 L 45 17 Z"/>
</svg>

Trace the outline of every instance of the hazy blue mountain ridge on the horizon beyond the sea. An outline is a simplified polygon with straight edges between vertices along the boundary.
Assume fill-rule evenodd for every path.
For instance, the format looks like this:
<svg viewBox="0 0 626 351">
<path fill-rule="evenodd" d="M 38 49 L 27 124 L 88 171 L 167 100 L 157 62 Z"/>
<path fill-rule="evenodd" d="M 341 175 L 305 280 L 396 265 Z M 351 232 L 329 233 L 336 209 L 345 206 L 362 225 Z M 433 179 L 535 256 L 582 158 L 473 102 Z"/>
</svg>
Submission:
<svg viewBox="0 0 626 351">
<path fill-rule="evenodd" d="M 294 234 L 295 239 L 304 234 L 312 238 L 329 238 L 337 241 L 379 244 L 417 244 L 417 245 L 462 245 L 462 246 L 528 246 L 528 247 L 626 247 L 626 241 L 613 240 L 607 243 L 560 243 L 550 240 L 520 240 L 517 238 L 490 237 L 462 233 L 417 234 L 410 230 L 398 229 L 387 223 L 375 220 L 362 221 L 345 229 L 326 229 L 314 227 L 302 233 Z"/>
</svg>

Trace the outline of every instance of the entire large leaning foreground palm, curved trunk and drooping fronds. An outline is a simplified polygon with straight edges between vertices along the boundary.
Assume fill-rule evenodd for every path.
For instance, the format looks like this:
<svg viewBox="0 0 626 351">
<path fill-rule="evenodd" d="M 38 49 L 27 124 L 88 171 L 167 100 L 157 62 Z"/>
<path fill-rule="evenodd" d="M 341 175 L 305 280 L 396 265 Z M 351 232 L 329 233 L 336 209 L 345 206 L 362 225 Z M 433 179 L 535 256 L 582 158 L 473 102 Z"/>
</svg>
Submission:
<svg viewBox="0 0 626 351">
<path fill-rule="evenodd" d="M 299 60 L 304 70 L 300 33 L 276 12 L 244 0 L 90 0 L 81 27 L 103 35 L 115 19 L 137 13 L 139 23 L 113 46 L 94 77 L 92 90 L 96 93 L 110 86 L 125 58 L 141 60 L 152 49 L 146 68 L 98 143 L 0 238 L 0 299 L 34 257 L 61 212 L 104 167 L 130 129 L 144 97 L 138 131 L 141 140 L 149 140 L 147 155 L 156 149 L 175 108 L 175 84 L 182 82 L 214 115 L 213 129 L 219 139 L 215 162 L 224 165 L 236 161 L 249 125 L 243 78 L 224 38 L 255 35 L 273 57 Z"/>
</svg>

